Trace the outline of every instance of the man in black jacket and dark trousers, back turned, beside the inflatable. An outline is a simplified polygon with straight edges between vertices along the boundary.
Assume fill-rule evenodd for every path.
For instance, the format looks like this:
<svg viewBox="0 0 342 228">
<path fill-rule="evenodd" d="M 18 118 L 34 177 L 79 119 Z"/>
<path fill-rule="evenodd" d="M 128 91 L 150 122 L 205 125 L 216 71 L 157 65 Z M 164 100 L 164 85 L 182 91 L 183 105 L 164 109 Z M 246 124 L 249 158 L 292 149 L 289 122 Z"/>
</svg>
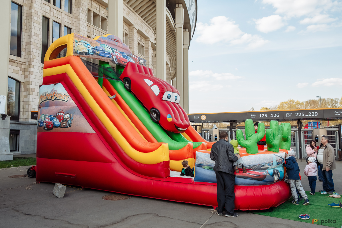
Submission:
<svg viewBox="0 0 342 228">
<path fill-rule="evenodd" d="M 220 140 L 211 147 L 210 158 L 215 161 L 214 171 L 216 174 L 217 190 L 216 197 L 218 203 L 218 214 L 222 216 L 223 207 L 226 209 L 225 216 L 236 217 L 234 212 L 234 167 L 233 162 L 238 160 L 240 155 L 234 154 L 234 147 L 228 143 L 228 133 L 222 131 Z"/>
</svg>

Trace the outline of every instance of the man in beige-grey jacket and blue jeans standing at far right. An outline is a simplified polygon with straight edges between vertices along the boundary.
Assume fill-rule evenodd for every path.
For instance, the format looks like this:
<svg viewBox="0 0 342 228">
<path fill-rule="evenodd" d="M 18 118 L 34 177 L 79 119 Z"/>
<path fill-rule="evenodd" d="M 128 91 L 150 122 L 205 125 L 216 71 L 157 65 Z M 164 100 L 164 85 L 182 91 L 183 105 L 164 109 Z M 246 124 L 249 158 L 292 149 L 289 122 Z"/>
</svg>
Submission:
<svg viewBox="0 0 342 228">
<path fill-rule="evenodd" d="M 336 163 L 335 163 L 335 150 L 329 144 L 328 136 L 323 136 L 321 138 L 321 146 L 318 149 L 318 153 L 320 153 L 322 149 L 323 149 L 323 163 L 321 163 L 320 165 L 320 170 L 322 170 L 321 178 L 323 180 L 323 190 L 327 191 L 328 194 L 332 194 L 335 191 L 334 181 L 332 179 L 332 170 L 336 169 Z"/>
</svg>

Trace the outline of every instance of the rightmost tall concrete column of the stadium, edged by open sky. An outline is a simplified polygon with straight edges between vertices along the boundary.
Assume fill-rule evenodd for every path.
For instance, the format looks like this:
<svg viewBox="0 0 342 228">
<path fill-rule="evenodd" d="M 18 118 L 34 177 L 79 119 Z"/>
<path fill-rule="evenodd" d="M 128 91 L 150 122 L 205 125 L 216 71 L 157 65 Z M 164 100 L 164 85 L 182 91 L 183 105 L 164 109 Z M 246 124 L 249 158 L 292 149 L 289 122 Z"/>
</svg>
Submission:
<svg viewBox="0 0 342 228">
<path fill-rule="evenodd" d="M 187 28 L 183 29 L 183 109 L 189 113 L 189 31 Z"/>
</svg>

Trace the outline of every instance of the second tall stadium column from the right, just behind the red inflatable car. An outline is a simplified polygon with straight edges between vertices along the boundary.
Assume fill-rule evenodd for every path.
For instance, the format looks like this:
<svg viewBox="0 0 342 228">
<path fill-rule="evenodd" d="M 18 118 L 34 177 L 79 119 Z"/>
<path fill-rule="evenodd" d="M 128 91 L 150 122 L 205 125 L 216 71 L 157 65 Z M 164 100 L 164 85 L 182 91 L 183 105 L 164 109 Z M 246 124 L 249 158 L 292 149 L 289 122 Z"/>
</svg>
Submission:
<svg viewBox="0 0 342 228">
<path fill-rule="evenodd" d="M 184 107 L 184 89 L 183 89 L 183 25 L 184 9 L 182 4 L 176 4 L 176 88 L 180 92 L 180 105 Z"/>
</svg>

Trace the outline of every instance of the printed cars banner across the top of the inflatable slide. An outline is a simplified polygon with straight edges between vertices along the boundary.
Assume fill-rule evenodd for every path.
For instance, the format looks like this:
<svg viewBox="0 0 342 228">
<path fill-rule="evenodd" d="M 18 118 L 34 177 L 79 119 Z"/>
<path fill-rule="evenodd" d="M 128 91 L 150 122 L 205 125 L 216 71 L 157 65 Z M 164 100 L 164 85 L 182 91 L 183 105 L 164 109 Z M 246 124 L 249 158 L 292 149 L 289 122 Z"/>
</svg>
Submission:
<svg viewBox="0 0 342 228">
<path fill-rule="evenodd" d="M 119 37 L 110 34 L 90 39 L 74 33 L 74 55 L 121 66 L 128 62 L 146 66 L 146 59 L 133 55 Z"/>
</svg>

